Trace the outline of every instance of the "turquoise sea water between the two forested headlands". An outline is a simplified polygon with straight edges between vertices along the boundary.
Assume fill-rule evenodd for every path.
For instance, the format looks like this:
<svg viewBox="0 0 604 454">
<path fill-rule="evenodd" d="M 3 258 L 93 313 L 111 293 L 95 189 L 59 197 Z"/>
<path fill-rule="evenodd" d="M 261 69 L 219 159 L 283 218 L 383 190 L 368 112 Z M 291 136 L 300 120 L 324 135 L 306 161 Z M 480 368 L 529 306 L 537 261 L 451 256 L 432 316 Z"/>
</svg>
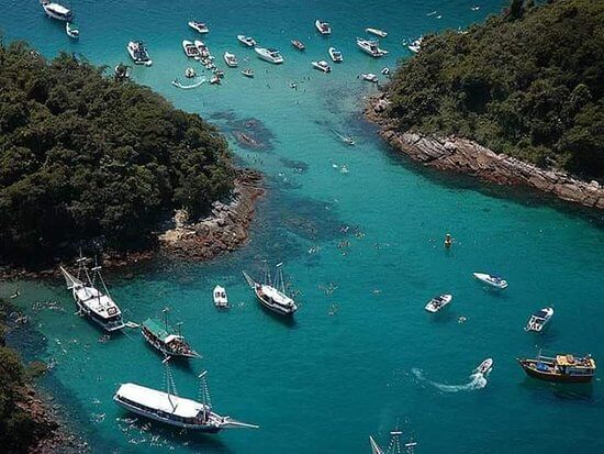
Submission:
<svg viewBox="0 0 604 454">
<path fill-rule="evenodd" d="M 409 57 L 403 38 L 468 26 L 501 1 L 480 1 L 479 11 L 460 0 L 76 1 L 78 43 L 36 1 L 9 4 L 0 20 L 7 38 L 26 38 L 45 55 L 77 52 L 113 67 L 127 60 L 128 40 L 144 38 L 155 63 L 134 68 L 134 78 L 213 121 L 238 159 L 267 180 L 243 250 L 206 264 L 158 259 L 130 279 L 107 275 L 128 320 L 168 304 L 184 322 L 204 358 L 174 366 L 180 395 L 197 396 L 195 375 L 208 369 L 215 409 L 260 430 L 191 435 L 127 420 L 111 400 L 119 384 L 159 388 L 164 379 L 159 356 L 142 337 L 130 331 L 99 343 L 101 333 L 74 315 L 59 281 L 0 287 L 2 295 L 21 289 L 16 301 L 33 323 L 13 342 L 27 358 L 56 363 L 44 384 L 94 452 L 367 453 L 369 434 L 385 443 L 396 424 L 424 453 L 603 452 L 602 383 L 551 386 L 526 378 L 515 363 L 536 346 L 604 361 L 601 215 L 420 169 L 388 150 L 359 114 L 374 88 L 358 74 Z M 230 49 L 249 57 L 242 66 L 256 78 L 226 69 L 222 87 L 171 87 L 189 66 L 180 41 L 194 37 L 186 24 L 193 18 L 209 23 L 204 41 L 216 56 Z M 332 22 L 331 37 L 315 33 L 316 18 Z M 366 26 L 390 32 L 383 60 L 355 47 Z M 239 33 L 280 47 L 284 65 L 258 60 L 238 45 Z M 304 54 L 291 48 L 293 37 L 306 43 Z M 333 44 L 345 63 L 329 75 L 312 70 L 310 60 L 326 58 Z M 332 129 L 357 145 L 345 146 Z M 235 131 L 265 146 L 239 147 Z M 450 251 L 443 248 L 446 232 L 456 239 Z M 338 247 L 342 241 L 349 245 Z M 262 311 L 245 286 L 241 272 L 258 275 L 264 258 L 283 261 L 301 291 L 293 323 Z M 502 274 L 510 287 L 485 291 L 471 278 L 478 270 Z M 234 304 L 228 312 L 212 304 L 219 283 Z M 454 301 L 430 315 L 423 307 L 440 292 Z M 525 333 L 529 314 L 546 304 L 556 308 L 547 332 Z M 473 380 L 485 357 L 494 358 L 493 372 Z"/>
</svg>

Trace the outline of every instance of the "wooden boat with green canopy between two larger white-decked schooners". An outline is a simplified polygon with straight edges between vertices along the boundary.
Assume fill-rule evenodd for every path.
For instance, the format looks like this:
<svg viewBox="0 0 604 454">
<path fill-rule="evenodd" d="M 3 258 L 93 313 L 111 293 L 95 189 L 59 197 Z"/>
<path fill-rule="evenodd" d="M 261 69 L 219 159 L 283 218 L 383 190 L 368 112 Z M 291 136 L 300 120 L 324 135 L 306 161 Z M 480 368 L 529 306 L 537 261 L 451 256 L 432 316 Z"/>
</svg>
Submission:
<svg viewBox="0 0 604 454">
<path fill-rule="evenodd" d="M 180 324 L 177 324 L 177 330 L 172 330 L 168 324 L 168 309 L 164 309 L 164 320 L 147 319 L 141 324 L 141 334 L 155 348 L 159 350 L 165 355 L 182 356 L 187 358 L 200 357 L 191 346 L 187 343 L 180 332 Z"/>
</svg>

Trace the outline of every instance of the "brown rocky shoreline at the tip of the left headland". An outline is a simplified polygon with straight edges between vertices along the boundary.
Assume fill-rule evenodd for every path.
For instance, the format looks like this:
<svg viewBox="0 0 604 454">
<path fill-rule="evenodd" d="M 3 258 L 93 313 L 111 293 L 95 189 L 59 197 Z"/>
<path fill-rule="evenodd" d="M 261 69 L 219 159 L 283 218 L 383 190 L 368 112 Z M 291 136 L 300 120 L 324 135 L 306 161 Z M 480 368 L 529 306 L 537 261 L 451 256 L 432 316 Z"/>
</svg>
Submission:
<svg viewBox="0 0 604 454">
<path fill-rule="evenodd" d="M 160 250 L 178 257 L 210 259 L 241 247 L 248 240 L 256 200 L 265 193 L 261 179 L 258 171 L 238 170 L 231 202 L 214 202 L 212 213 L 199 222 L 188 222 L 187 213 L 178 211 L 175 229 L 159 235 Z"/>
</svg>

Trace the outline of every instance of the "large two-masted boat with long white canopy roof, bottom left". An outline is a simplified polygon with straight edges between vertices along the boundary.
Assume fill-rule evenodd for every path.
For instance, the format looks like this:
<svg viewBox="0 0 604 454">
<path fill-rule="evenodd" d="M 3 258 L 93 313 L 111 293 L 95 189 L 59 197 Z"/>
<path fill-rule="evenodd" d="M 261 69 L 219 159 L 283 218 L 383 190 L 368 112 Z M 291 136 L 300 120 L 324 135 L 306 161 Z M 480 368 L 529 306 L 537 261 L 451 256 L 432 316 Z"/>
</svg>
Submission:
<svg viewBox="0 0 604 454">
<path fill-rule="evenodd" d="M 120 385 L 113 396 L 113 401 L 133 413 L 176 425 L 182 429 L 199 430 L 201 432 L 217 433 L 223 429 L 250 428 L 258 425 L 236 421 L 231 417 L 223 417 L 212 411 L 210 391 L 205 376 L 202 372 L 200 379 L 201 402 L 177 395 L 172 375 L 168 366 L 169 356 L 164 359 L 166 366 L 166 391 L 147 388 L 134 383 Z"/>
</svg>

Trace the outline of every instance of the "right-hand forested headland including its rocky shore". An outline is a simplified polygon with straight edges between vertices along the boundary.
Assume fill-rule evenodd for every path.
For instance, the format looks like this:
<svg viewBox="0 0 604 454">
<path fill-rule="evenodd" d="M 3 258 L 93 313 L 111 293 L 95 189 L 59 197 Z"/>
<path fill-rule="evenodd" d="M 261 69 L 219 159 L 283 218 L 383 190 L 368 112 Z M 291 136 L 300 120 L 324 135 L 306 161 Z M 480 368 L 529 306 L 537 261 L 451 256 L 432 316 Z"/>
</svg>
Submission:
<svg viewBox="0 0 604 454">
<path fill-rule="evenodd" d="M 512 0 L 427 35 L 368 109 L 427 166 L 604 209 L 604 3 Z"/>
</svg>

